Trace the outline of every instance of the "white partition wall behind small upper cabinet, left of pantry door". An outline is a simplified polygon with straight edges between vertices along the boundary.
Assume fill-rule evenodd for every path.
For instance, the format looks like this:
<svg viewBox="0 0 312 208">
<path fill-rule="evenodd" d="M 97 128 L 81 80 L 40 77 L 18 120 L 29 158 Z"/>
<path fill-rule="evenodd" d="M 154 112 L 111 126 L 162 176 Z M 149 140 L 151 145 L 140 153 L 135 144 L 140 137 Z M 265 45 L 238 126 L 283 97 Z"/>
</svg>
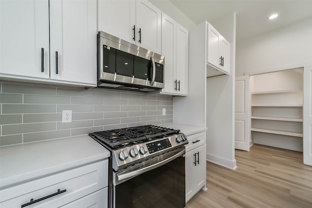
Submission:
<svg viewBox="0 0 312 208">
<path fill-rule="evenodd" d="M 234 150 L 234 84 L 236 14 L 211 22 L 231 44 L 230 75 L 207 78 L 207 159 L 236 168 Z M 210 67 L 210 66 L 207 66 Z"/>
</svg>

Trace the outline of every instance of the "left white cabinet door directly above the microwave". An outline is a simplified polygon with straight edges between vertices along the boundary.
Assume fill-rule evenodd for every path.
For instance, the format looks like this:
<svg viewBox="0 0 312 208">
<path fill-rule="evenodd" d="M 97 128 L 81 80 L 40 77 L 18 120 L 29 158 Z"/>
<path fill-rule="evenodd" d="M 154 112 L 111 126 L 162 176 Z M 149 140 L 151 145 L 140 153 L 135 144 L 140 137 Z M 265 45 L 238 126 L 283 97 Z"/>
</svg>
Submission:
<svg viewBox="0 0 312 208">
<path fill-rule="evenodd" d="M 98 30 L 136 44 L 136 1 L 98 0 Z"/>
</svg>

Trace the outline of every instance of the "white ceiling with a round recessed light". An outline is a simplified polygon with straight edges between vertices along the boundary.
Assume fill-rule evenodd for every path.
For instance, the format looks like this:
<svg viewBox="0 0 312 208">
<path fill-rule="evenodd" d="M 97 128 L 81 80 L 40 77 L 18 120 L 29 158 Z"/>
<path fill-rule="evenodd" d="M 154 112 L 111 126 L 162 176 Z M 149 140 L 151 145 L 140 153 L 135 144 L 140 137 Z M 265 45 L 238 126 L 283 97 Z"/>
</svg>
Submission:
<svg viewBox="0 0 312 208">
<path fill-rule="evenodd" d="M 312 17 L 312 0 L 170 0 L 196 24 L 236 13 L 236 41 Z M 276 19 L 268 17 L 278 13 Z"/>
</svg>

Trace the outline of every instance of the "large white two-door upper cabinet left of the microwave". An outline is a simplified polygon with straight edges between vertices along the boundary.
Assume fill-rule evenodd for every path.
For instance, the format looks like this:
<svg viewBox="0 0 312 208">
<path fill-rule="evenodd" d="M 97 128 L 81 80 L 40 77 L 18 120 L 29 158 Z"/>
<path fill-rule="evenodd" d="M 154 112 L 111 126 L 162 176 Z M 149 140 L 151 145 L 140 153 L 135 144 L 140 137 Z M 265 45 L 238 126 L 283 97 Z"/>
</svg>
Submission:
<svg viewBox="0 0 312 208">
<path fill-rule="evenodd" d="M 96 86 L 96 0 L 1 0 L 0 9 L 2 79 Z"/>
</svg>

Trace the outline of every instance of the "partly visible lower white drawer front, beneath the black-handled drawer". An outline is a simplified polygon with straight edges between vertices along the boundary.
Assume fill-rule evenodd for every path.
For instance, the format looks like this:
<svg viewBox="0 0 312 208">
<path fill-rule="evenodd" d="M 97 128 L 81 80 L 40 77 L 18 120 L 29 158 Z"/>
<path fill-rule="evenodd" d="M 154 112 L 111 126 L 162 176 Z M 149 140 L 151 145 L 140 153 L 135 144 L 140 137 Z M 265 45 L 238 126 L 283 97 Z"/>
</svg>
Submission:
<svg viewBox="0 0 312 208">
<path fill-rule="evenodd" d="M 108 190 L 107 187 L 91 193 L 81 199 L 69 203 L 61 208 L 107 208 Z"/>
</svg>

